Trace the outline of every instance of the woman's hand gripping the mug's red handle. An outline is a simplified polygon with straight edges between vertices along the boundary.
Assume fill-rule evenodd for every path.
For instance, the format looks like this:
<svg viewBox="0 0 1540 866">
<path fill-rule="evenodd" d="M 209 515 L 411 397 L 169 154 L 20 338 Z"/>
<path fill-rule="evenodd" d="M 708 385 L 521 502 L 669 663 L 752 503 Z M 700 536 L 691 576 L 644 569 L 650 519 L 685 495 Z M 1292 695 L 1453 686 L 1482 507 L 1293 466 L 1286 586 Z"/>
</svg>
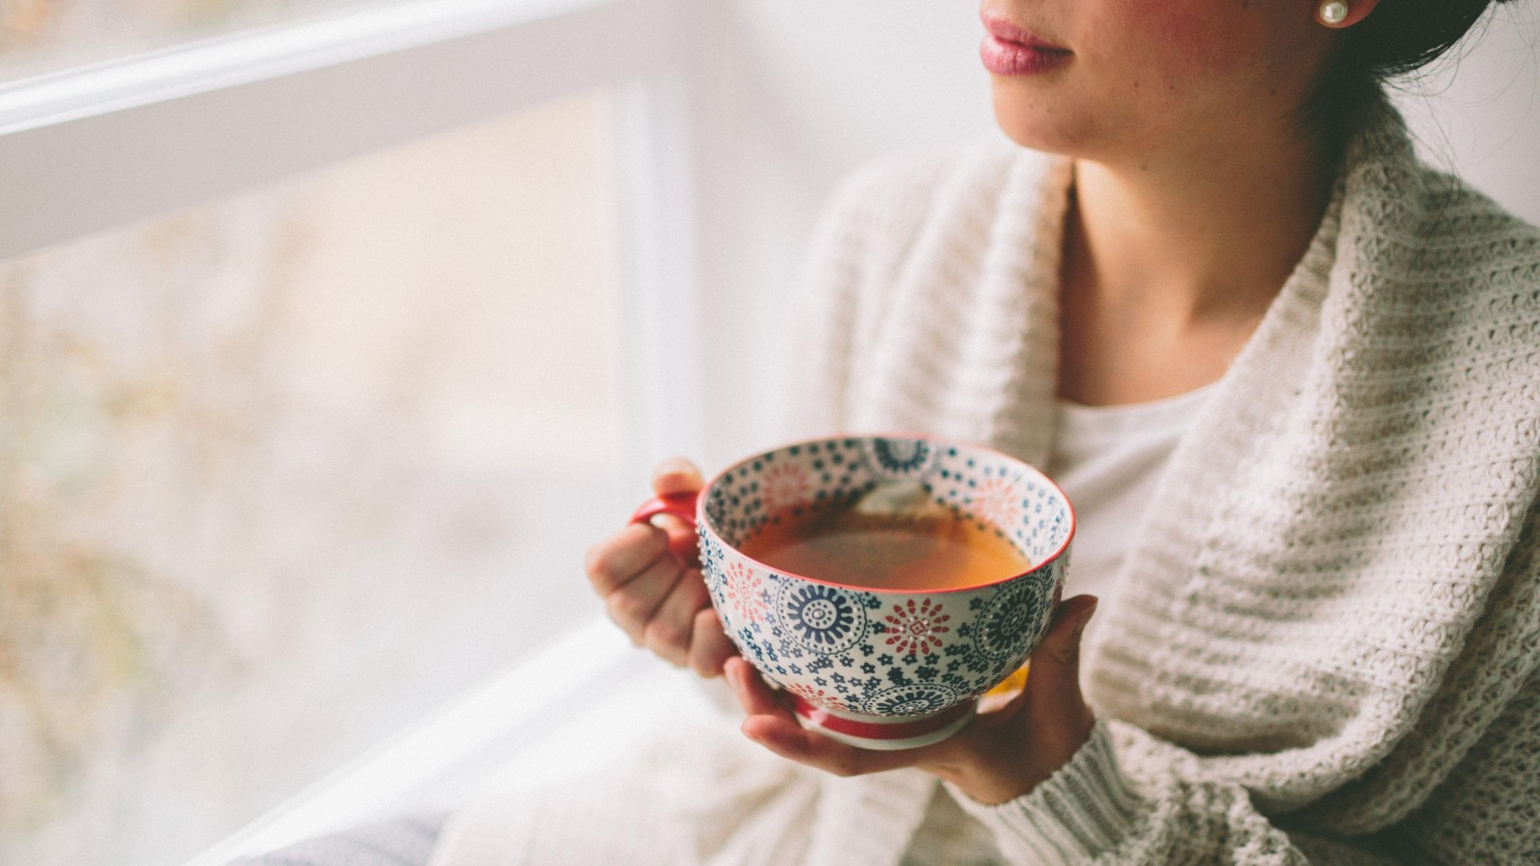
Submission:
<svg viewBox="0 0 1540 866">
<path fill-rule="evenodd" d="M 684 458 L 653 472 L 653 492 L 690 493 L 702 487 L 701 472 Z M 670 664 L 716 676 L 738 653 L 722 632 L 701 578 L 695 530 L 659 515 L 661 525 L 630 524 L 588 550 L 584 561 L 593 590 L 631 643 Z"/>
</svg>

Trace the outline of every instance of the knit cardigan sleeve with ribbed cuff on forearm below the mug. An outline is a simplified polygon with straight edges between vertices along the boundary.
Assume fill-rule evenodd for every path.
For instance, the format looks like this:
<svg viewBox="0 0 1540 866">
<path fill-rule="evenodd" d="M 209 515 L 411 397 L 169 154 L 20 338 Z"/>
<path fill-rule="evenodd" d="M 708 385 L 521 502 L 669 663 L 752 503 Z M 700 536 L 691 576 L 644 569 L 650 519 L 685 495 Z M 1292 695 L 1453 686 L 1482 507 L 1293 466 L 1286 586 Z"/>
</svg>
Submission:
<svg viewBox="0 0 1540 866">
<path fill-rule="evenodd" d="M 999 806 L 947 789 L 1010 863 L 1528 863 L 1540 861 L 1540 672 L 1421 809 L 1346 841 L 1283 829 L 1246 789 L 1203 780 L 1195 757 L 1144 730 L 1100 721 L 1047 781 Z"/>
</svg>

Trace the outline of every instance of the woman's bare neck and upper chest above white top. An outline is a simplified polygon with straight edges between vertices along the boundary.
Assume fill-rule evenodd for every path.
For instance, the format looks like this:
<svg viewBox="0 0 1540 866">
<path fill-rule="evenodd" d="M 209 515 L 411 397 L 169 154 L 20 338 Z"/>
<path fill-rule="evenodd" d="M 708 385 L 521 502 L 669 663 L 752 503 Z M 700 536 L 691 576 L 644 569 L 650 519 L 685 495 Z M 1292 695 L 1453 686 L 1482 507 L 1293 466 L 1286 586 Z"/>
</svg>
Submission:
<svg viewBox="0 0 1540 866">
<path fill-rule="evenodd" d="M 1224 374 L 1309 247 L 1331 191 L 1324 148 L 1258 139 L 1201 159 L 1076 162 L 1060 396 L 1144 402 Z"/>
</svg>

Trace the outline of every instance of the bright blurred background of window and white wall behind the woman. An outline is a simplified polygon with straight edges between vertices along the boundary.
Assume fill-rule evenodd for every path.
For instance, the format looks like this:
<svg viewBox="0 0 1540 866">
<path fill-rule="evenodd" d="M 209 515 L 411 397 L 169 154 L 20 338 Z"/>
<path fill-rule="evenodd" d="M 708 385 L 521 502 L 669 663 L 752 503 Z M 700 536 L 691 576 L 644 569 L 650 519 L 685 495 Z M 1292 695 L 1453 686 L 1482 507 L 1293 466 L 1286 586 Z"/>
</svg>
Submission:
<svg viewBox="0 0 1540 866">
<path fill-rule="evenodd" d="M 1398 100 L 1540 222 L 1540 2 L 1478 31 Z M 588 633 L 653 461 L 778 439 L 822 197 L 998 136 L 978 39 L 933 0 L 0 0 L 0 863 L 237 851 L 403 732 L 431 777 L 433 720 Z"/>
</svg>

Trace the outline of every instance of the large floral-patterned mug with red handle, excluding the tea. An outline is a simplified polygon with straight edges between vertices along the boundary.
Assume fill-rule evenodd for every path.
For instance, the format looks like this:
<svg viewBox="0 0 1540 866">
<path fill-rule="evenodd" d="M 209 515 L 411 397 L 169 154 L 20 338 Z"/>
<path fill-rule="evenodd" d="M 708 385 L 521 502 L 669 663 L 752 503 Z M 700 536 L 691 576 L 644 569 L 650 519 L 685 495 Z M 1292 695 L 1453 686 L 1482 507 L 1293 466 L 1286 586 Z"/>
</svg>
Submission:
<svg viewBox="0 0 1540 866">
<path fill-rule="evenodd" d="M 919 482 L 952 513 L 1007 538 L 1026 572 L 962 589 L 884 590 L 792 575 L 739 550 L 767 521 L 849 507 Z M 633 521 L 695 524 L 711 604 L 738 650 L 792 695 L 804 727 L 867 749 L 946 740 L 978 696 L 1036 646 L 1064 586 L 1075 513 L 1030 465 L 918 436 L 841 436 L 742 459 L 698 495 L 662 496 Z"/>
</svg>

